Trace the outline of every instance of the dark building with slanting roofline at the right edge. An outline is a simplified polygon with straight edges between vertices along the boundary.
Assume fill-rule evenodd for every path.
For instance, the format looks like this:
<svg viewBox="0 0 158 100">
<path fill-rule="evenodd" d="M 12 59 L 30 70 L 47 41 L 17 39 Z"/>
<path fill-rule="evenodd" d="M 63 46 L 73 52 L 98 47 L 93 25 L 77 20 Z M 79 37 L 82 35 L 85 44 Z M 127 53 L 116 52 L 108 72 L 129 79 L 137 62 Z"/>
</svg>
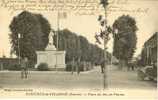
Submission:
<svg viewBox="0 0 158 100">
<path fill-rule="evenodd" d="M 158 32 L 144 43 L 141 54 L 141 62 L 143 65 L 151 65 L 157 62 L 157 35 Z"/>
</svg>

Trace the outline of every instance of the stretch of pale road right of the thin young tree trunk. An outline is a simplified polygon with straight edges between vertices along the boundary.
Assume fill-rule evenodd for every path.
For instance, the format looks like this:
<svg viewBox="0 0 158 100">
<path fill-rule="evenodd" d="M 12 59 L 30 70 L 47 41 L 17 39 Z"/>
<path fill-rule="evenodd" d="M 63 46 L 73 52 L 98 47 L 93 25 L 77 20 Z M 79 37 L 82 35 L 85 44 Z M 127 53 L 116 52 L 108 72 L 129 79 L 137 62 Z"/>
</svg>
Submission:
<svg viewBox="0 0 158 100">
<path fill-rule="evenodd" d="M 156 83 L 139 80 L 137 77 L 137 71 L 119 71 L 117 66 L 109 66 L 108 69 L 109 88 L 156 89 Z"/>
</svg>

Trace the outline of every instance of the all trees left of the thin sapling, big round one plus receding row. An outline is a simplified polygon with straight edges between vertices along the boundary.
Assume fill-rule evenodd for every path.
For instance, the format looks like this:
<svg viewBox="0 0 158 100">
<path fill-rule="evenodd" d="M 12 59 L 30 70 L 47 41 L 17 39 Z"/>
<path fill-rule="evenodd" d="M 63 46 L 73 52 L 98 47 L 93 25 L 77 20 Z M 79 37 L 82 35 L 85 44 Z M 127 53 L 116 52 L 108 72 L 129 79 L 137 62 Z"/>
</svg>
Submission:
<svg viewBox="0 0 158 100">
<path fill-rule="evenodd" d="M 10 24 L 11 53 L 20 57 L 28 57 L 35 64 L 37 50 L 44 50 L 48 44 L 51 27 L 46 18 L 40 14 L 23 11 L 15 16 Z M 55 32 L 57 33 L 57 32 Z M 54 36 L 54 45 L 57 43 Z M 58 50 L 66 51 L 66 63 L 71 61 L 86 61 L 99 64 L 103 59 L 103 50 L 91 44 L 83 36 L 64 29 L 58 32 Z M 109 59 L 110 54 L 108 53 Z"/>
</svg>

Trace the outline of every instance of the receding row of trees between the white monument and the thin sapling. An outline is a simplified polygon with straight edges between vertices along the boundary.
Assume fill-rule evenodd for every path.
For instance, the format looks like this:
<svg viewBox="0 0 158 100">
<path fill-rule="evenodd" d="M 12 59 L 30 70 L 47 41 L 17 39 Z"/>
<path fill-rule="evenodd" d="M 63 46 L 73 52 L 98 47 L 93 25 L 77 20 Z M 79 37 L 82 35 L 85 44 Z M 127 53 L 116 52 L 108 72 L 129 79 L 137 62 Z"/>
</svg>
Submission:
<svg viewBox="0 0 158 100">
<path fill-rule="evenodd" d="M 88 40 L 68 29 L 59 31 L 58 50 L 66 51 L 66 62 L 71 61 L 86 61 L 92 64 L 100 64 L 104 59 L 104 51 L 95 44 L 91 44 Z M 56 35 L 54 36 L 54 45 L 56 46 Z M 110 60 L 110 53 L 107 52 L 108 60 Z"/>
</svg>

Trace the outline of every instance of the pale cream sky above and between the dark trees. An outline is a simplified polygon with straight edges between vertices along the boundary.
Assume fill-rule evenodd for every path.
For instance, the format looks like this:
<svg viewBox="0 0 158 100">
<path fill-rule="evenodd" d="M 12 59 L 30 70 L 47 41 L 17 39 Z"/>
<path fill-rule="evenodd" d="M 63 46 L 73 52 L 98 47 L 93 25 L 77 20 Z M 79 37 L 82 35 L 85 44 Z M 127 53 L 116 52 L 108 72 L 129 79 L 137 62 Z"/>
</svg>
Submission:
<svg viewBox="0 0 158 100">
<path fill-rule="evenodd" d="M 139 55 L 142 46 L 146 40 L 148 40 L 153 33 L 158 31 L 158 0 L 126 0 L 128 4 L 118 4 L 115 1 L 112 6 L 117 7 L 116 9 L 110 8 L 108 13 L 108 25 L 112 25 L 113 22 L 121 15 L 127 15 L 134 17 L 137 22 L 137 49 L 135 56 Z M 125 0 L 121 0 L 125 1 Z M 135 12 L 129 12 L 128 10 L 136 10 Z M 142 11 L 143 10 L 143 11 Z M 7 8 L 0 7 L 0 57 L 5 54 L 7 57 L 10 56 L 10 40 L 8 34 L 10 34 L 9 24 L 14 16 L 17 16 L 21 11 L 11 12 Z M 57 29 L 57 12 L 35 12 L 42 14 L 48 19 L 51 27 Z M 103 13 L 100 11 L 100 13 Z M 85 36 L 90 43 L 95 44 L 95 32 L 99 32 L 100 26 L 97 21 L 98 13 L 95 15 L 75 15 L 74 13 L 67 13 L 67 17 L 60 19 L 60 29 L 67 28 L 78 35 Z M 98 45 L 103 47 L 103 44 Z M 108 42 L 108 51 L 112 52 L 113 39 L 111 38 Z"/>
</svg>

